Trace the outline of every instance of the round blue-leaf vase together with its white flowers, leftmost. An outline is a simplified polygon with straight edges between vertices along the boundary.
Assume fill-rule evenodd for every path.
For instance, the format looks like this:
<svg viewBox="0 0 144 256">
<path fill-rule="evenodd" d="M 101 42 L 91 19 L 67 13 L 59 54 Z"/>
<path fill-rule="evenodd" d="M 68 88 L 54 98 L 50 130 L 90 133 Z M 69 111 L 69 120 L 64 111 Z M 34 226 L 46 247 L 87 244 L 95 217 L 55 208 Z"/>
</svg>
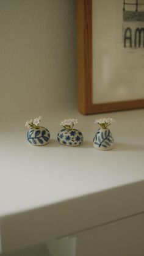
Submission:
<svg viewBox="0 0 144 256">
<path fill-rule="evenodd" d="M 48 144 L 50 133 L 45 127 L 40 126 L 41 117 L 27 120 L 25 126 L 29 128 L 27 132 L 27 141 L 34 146 Z"/>
</svg>

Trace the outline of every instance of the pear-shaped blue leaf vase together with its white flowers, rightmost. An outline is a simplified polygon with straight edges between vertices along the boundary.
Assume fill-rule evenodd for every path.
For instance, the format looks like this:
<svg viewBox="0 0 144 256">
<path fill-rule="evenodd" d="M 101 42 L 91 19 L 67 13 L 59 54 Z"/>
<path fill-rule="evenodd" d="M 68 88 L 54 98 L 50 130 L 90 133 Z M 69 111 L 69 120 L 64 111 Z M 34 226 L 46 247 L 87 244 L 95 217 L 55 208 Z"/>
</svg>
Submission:
<svg viewBox="0 0 144 256">
<path fill-rule="evenodd" d="M 96 119 L 95 123 L 98 123 L 100 128 L 93 138 L 93 147 L 99 150 L 110 150 L 114 146 L 114 139 L 108 126 L 115 122 L 112 118 Z"/>
</svg>

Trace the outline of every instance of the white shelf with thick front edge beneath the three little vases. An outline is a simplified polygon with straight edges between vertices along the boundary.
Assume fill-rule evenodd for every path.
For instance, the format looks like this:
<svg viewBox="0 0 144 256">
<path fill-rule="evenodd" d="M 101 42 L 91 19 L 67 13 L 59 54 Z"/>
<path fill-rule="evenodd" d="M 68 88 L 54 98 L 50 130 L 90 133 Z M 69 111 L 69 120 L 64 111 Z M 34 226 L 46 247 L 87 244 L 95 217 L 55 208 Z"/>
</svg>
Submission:
<svg viewBox="0 0 144 256">
<path fill-rule="evenodd" d="M 39 243 L 45 237 L 73 235 L 142 213 L 143 114 L 144 109 L 84 116 L 75 106 L 1 114 L 0 221 L 4 250 Z M 24 123 L 38 115 L 41 125 L 51 133 L 49 144 L 43 147 L 26 141 Z M 94 121 L 99 117 L 117 120 L 110 127 L 115 148 L 107 152 L 92 147 L 98 130 Z M 67 147 L 57 142 L 59 123 L 66 118 L 78 119 L 75 128 L 84 134 L 83 145 Z"/>
</svg>

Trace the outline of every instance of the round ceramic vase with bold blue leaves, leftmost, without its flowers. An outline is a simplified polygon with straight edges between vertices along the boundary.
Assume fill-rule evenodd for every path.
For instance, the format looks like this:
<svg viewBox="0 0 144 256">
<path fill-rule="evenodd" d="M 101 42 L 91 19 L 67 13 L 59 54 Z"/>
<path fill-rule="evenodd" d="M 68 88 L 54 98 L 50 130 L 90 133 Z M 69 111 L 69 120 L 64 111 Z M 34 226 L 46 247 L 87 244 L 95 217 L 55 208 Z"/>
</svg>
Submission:
<svg viewBox="0 0 144 256">
<path fill-rule="evenodd" d="M 42 146 L 48 144 L 50 137 L 49 131 L 45 127 L 31 128 L 27 132 L 27 141 L 34 146 Z"/>
</svg>

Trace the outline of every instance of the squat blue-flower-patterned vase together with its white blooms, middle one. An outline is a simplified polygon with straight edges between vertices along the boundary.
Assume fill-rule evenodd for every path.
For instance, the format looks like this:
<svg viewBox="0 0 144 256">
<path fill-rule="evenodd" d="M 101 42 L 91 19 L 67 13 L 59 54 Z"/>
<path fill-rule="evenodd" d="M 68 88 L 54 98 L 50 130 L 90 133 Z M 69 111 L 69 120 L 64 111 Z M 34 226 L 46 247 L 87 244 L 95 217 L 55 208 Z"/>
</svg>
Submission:
<svg viewBox="0 0 144 256">
<path fill-rule="evenodd" d="M 63 129 L 57 134 L 57 140 L 62 145 L 67 146 L 79 146 L 84 140 L 84 136 L 81 131 L 73 129 L 74 124 L 77 123 L 77 119 L 65 119 L 60 125 Z"/>
</svg>

